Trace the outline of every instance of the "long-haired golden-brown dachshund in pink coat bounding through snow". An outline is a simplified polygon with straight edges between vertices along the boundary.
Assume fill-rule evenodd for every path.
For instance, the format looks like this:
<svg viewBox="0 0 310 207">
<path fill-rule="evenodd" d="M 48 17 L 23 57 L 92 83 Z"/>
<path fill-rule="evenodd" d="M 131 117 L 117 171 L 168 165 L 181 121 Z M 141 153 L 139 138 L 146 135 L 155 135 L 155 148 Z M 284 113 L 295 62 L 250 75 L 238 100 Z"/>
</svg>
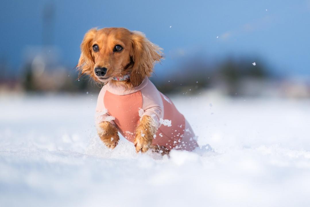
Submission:
<svg viewBox="0 0 310 207">
<path fill-rule="evenodd" d="M 148 79 L 162 48 L 143 33 L 126 28 L 89 30 L 81 43 L 78 70 L 102 87 L 96 106 L 96 128 L 108 148 L 119 142 L 118 132 L 133 142 L 138 153 L 169 154 L 193 151 L 195 134 L 172 101 Z"/>
</svg>

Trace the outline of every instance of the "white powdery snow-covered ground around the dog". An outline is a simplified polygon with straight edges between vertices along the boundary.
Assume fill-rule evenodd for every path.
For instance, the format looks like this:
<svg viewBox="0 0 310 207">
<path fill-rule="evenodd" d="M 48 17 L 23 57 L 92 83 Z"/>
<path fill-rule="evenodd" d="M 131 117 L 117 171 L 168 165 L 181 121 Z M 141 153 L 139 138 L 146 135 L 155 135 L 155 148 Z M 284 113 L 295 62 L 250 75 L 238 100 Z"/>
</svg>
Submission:
<svg viewBox="0 0 310 207">
<path fill-rule="evenodd" d="M 96 95 L 1 96 L 0 206 L 310 206 L 309 100 L 171 98 L 208 149 L 109 150 Z"/>
</svg>

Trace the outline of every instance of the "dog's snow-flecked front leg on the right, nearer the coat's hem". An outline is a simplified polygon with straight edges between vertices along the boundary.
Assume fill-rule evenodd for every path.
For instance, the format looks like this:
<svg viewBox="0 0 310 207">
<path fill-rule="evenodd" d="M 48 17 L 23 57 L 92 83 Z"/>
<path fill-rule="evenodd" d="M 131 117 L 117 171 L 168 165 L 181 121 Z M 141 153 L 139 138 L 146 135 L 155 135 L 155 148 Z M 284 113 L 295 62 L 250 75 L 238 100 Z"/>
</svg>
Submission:
<svg viewBox="0 0 310 207">
<path fill-rule="evenodd" d="M 134 144 L 137 153 L 146 152 L 152 145 L 153 136 L 157 132 L 155 121 L 152 117 L 144 115 L 135 130 Z"/>
</svg>

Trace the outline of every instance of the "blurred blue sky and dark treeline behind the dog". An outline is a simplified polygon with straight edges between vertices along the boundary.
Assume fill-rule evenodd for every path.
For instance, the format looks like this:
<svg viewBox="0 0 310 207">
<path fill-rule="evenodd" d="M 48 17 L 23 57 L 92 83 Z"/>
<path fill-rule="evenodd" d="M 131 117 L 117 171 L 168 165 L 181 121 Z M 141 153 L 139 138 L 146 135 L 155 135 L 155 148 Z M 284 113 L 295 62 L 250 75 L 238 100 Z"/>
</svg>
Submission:
<svg viewBox="0 0 310 207">
<path fill-rule="evenodd" d="M 1 1 L 0 92 L 98 92 L 78 79 L 93 27 L 126 27 L 164 49 L 164 93 L 310 97 L 310 1 Z"/>
</svg>

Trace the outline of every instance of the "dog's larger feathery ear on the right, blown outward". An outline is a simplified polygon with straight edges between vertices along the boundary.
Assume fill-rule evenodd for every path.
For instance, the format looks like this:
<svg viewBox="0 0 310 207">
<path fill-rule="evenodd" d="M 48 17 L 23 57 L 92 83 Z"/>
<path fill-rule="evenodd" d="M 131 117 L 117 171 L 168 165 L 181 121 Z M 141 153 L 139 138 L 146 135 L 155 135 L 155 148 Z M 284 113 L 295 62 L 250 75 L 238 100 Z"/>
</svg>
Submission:
<svg viewBox="0 0 310 207">
<path fill-rule="evenodd" d="M 162 48 L 151 43 L 143 33 L 133 31 L 131 34 L 132 59 L 134 65 L 130 74 L 130 82 L 133 87 L 140 85 L 145 76 L 150 76 L 156 61 L 160 61 Z"/>
</svg>

